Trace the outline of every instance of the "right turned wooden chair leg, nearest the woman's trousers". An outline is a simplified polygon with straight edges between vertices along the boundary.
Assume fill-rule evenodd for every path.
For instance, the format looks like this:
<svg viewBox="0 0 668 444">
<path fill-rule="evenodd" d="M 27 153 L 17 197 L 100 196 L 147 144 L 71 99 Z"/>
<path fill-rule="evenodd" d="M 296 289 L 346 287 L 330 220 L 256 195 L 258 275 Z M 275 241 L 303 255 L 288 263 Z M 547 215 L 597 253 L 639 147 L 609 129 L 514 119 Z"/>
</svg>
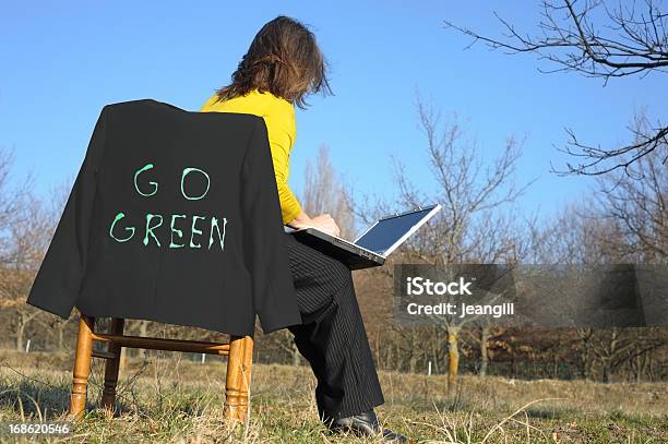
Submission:
<svg viewBox="0 0 668 444">
<path fill-rule="evenodd" d="M 225 417 L 228 423 L 243 422 L 248 412 L 253 361 L 253 338 L 232 336 L 225 382 Z"/>
</svg>

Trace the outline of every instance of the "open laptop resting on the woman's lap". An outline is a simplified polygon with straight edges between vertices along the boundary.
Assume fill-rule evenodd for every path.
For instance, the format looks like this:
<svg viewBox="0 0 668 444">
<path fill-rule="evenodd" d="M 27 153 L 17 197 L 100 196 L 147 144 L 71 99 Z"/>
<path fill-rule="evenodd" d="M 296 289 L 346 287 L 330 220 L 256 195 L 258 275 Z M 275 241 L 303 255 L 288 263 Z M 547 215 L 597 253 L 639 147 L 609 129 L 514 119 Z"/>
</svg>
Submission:
<svg viewBox="0 0 668 444">
<path fill-rule="evenodd" d="M 410 235 L 441 209 L 441 205 L 419 207 L 378 219 L 353 242 L 337 238 L 317 228 L 308 227 L 289 231 L 300 242 L 337 259 L 350 269 L 383 265 Z"/>
</svg>

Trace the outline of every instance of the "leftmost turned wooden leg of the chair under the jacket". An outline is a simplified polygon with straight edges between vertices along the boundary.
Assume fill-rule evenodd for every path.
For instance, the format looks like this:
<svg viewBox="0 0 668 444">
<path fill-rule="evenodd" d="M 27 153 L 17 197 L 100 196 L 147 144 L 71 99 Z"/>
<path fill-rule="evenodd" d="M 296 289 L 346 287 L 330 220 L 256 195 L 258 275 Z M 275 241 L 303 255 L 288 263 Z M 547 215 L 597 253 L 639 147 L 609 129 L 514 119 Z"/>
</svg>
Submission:
<svg viewBox="0 0 668 444">
<path fill-rule="evenodd" d="M 95 317 L 86 316 L 82 313 L 79 320 L 72 394 L 70 396 L 70 416 L 74 419 L 82 419 L 86 411 L 86 385 L 91 374 L 94 328 Z"/>
</svg>

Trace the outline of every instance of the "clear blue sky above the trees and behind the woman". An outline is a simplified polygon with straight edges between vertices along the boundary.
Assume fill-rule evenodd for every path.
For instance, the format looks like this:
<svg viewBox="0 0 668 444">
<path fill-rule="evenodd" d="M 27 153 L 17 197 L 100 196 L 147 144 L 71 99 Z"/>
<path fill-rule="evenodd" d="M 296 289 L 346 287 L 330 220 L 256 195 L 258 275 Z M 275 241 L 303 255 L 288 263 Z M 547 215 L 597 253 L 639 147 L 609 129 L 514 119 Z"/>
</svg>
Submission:
<svg viewBox="0 0 668 444">
<path fill-rule="evenodd" d="M 14 178 L 37 192 L 73 179 L 105 104 L 151 97 L 196 110 L 228 83 L 259 31 L 278 14 L 317 34 L 335 96 L 297 111 L 294 189 L 322 144 L 359 193 L 391 197 L 391 156 L 429 189 L 416 89 L 444 117 L 456 113 L 487 156 L 506 136 L 526 137 L 517 180 L 538 177 L 522 208 L 552 211 L 588 192 L 589 180 L 549 172 L 564 127 L 604 145 L 628 139 L 634 110 L 666 116 L 665 77 L 612 81 L 541 74 L 534 56 L 505 56 L 443 28 L 448 19 L 500 36 L 497 11 L 532 31 L 539 2 L 5 2 L 0 15 L 0 146 L 15 153 Z"/>
</svg>

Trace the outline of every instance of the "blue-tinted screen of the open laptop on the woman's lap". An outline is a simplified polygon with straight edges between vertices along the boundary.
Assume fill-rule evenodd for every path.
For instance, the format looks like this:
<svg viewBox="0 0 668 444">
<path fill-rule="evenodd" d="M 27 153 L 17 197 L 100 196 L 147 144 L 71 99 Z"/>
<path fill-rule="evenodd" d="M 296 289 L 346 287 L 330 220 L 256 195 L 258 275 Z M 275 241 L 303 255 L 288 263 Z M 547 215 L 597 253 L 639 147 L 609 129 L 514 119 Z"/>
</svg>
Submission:
<svg viewBox="0 0 668 444">
<path fill-rule="evenodd" d="M 408 233 L 410 228 L 427 217 L 432 209 L 433 206 L 381 219 L 362 237 L 356 240 L 355 244 L 382 255 Z"/>
</svg>

